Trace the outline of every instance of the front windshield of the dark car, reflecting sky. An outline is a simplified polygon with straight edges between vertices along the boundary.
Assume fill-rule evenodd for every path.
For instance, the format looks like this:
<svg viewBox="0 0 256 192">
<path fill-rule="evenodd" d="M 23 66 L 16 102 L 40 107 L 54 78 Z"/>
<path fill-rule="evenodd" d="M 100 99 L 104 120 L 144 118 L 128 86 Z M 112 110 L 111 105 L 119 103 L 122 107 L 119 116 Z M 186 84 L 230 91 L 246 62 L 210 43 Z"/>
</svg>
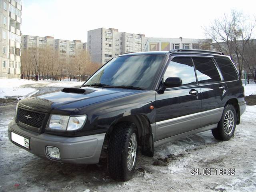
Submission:
<svg viewBox="0 0 256 192">
<path fill-rule="evenodd" d="M 112 59 L 84 85 L 133 86 L 149 90 L 164 55 L 121 56 Z"/>
</svg>

